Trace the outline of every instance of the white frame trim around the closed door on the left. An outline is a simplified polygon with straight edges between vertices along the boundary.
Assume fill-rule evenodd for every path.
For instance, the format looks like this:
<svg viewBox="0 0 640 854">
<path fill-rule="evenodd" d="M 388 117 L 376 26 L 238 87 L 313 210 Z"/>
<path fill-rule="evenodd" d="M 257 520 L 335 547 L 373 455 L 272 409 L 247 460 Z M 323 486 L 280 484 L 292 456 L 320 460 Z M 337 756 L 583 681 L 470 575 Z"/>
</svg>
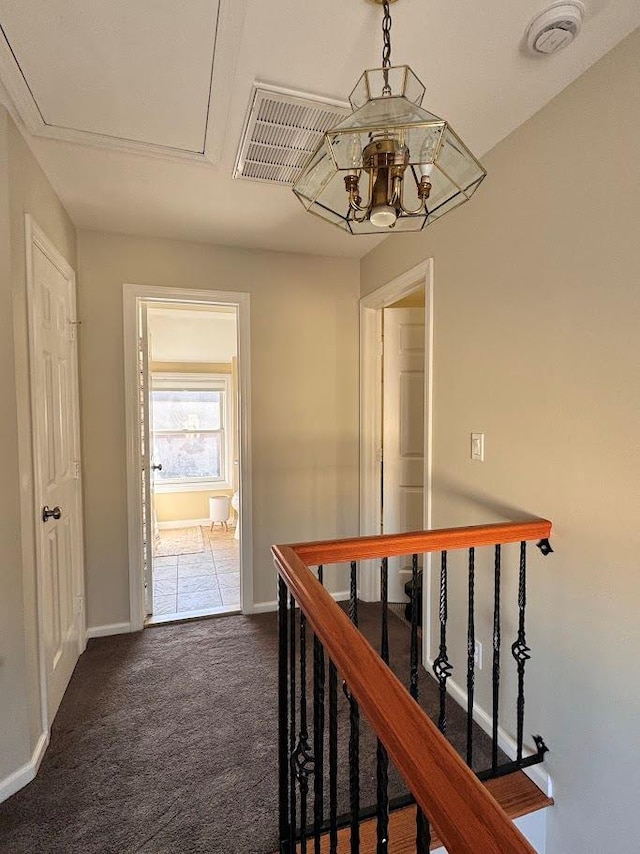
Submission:
<svg viewBox="0 0 640 854">
<path fill-rule="evenodd" d="M 33 401 L 35 396 L 41 393 L 38 388 L 36 377 L 36 361 L 37 361 L 37 341 L 38 329 L 36 325 L 34 298 L 35 298 L 35 282 L 34 282 L 34 264 L 33 250 L 38 247 L 56 267 L 57 270 L 64 276 L 69 283 L 72 292 L 72 317 L 69 318 L 72 322 L 77 321 L 77 290 L 76 290 L 76 274 L 66 258 L 58 251 L 55 245 L 49 240 L 45 232 L 40 228 L 31 214 L 24 216 L 25 227 L 25 253 L 26 253 L 26 303 L 27 303 L 27 334 L 29 339 L 29 430 L 31 433 L 31 460 L 33 470 L 33 500 L 31 504 L 31 512 L 33 513 L 30 519 L 31 530 L 33 531 L 33 555 L 35 562 L 36 576 L 36 613 L 38 620 L 38 669 L 40 683 L 40 718 L 42 722 L 42 732 L 46 734 L 48 742 L 48 734 L 51 728 L 52 721 L 49 720 L 48 709 L 48 687 L 47 687 L 47 669 L 46 669 L 46 651 L 44 643 L 44 603 L 42 601 L 42 562 L 40 560 L 38 548 L 38 522 L 40 519 L 40 510 L 42 507 L 42 496 L 40 495 L 40 481 L 42 475 L 42 460 L 40 458 L 40 450 L 38 448 L 38 433 L 35 418 L 35 410 Z M 79 384 L 79 366 L 78 366 L 78 347 L 76 337 L 76 353 L 73 360 L 73 386 L 75 400 L 78 413 L 78 435 L 75 437 L 77 448 L 74 449 L 75 455 L 80 462 L 80 478 L 78 481 L 78 490 L 76 493 L 75 513 L 78 526 L 78 539 L 73 544 L 74 547 L 74 569 L 73 572 L 73 599 L 72 607 L 75 608 L 77 597 L 81 597 L 82 610 L 80 613 L 76 610 L 76 622 L 78 630 L 78 656 L 80 656 L 86 648 L 86 591 L 84 582 L 84 529 L 83 529 L 83 501 L 82 501 L 82 447 L 81 447 L 81 428 L 80 428 L 80 384 Z"/>
</svg>

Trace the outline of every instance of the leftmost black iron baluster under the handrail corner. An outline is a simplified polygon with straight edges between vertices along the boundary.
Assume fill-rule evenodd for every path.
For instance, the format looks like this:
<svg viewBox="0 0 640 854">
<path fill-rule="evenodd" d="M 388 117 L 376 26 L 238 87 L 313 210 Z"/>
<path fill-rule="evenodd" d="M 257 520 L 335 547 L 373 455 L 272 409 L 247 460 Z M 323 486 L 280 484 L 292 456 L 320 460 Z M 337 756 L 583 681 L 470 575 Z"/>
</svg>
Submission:
<svg viewBox="0 0 640 854">
<path fill-rule="evenodd" d="M 287 585 L 278 576 L 278 792 L 280 851 L 290 851 L 295 831 L 289 821 L 289 708 L 288 708 Z"/>
</svg>

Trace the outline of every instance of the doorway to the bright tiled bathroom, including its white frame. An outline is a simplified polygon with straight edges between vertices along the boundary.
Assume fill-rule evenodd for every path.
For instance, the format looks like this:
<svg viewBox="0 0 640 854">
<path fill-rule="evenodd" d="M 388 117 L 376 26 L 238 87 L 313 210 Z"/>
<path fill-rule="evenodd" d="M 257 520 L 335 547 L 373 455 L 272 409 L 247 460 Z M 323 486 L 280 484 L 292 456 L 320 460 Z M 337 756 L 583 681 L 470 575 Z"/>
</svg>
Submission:
<svg viewBox="0 0 640 854">
<path fill-rule="evenodd" d="M 132 623 L 250 611 L 248 295 L 125 286 L 125 351 Z"/>
</svg>

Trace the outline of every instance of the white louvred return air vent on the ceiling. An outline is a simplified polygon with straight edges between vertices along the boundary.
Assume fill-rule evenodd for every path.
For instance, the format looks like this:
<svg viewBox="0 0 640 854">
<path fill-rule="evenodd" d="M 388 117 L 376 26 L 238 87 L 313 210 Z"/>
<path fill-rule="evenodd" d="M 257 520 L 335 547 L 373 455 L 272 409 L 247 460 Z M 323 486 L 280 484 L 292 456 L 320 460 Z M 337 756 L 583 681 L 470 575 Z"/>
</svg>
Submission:
<svg viewBox="0 0 640 854">
<path fill-rule="evenodd" d="M 293 184 L 322 134 L 350 112 L 343 101 L 254 84 L 233 177 Z"/>
</svg>

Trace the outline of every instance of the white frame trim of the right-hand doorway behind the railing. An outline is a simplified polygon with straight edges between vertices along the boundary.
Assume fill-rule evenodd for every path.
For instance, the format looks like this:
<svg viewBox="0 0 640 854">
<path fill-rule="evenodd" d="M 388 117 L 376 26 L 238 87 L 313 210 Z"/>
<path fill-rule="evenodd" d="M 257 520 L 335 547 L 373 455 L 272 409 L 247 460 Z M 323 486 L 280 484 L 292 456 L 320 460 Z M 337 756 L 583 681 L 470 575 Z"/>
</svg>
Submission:
<svg viewBox="0 0 640 854">
<path fill-rule="evenodd" d="M 382 310 L 424 286 L 425 292 L 425 431 L 424 527 L 431 527 L 433 431 L 433 258 L 422 261 L 360 300 L 360 536 L 379 534 L 379 450 L 382 443 Z M 363 565 L 360 595 L 365 601 L 380 599 L 380 580 L 374 561 Z M 425 561 L 427 600 L 430 560 Z M 425 601 L 423 614 L 428 614 Z M 427 636 L 429 633 L 424 632 Z"/>
</svg>

